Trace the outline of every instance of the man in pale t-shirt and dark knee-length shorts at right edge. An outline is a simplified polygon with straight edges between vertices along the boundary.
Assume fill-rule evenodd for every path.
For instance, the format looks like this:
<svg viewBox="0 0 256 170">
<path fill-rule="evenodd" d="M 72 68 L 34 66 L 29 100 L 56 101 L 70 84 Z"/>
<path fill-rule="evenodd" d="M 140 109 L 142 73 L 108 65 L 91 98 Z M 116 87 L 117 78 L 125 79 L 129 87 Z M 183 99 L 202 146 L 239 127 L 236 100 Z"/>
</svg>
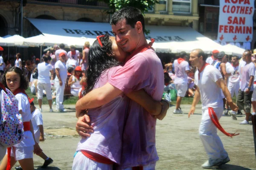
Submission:
<svg viewBox="0 0 256 170">
<path fill-rule="evenodd" d="M 241 125 L 249 124 L 251 101 L 253 95 L 253 82 L 255 75 L 255 65 L 251 62 L 251 52 L 250 50 L 245 50 L 243 54 L 243 61 L 246 65 L 241 69 L 241 88 L 239 90 L 237 105 L 240 110 L 244 110 L 245 119 L 240 122 Z"/>
</svg>

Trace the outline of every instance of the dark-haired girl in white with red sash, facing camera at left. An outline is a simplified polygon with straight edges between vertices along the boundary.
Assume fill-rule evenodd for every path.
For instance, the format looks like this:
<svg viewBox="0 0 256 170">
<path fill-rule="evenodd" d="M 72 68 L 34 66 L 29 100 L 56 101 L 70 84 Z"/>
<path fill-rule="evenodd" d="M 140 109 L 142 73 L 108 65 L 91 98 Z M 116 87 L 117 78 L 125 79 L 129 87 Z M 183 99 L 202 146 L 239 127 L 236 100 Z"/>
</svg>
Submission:
<svg viewBox="0 0 256 170">
<path fill-rule="evenodd" d="M 29 82 L 20 68 L 11 67 L 3 75 L 3 85 L 12 91 L 17 98 L 19 113 L 22 116 L 24 125 L 23 140 L 12 147 L 9 166 L 12 168 L 16 161 L 19 161 L 23 170 L 34 170 L 33 151 L 34 153 L 40 154 L 42 150 L 38 143 L 35 142 L 34 130 L 31 123 L 30 104 L 25 92 L 25 89 L 29 86 Z M 0 165 L 0 170 L 6 170 L 8 163 L 6 153 Z"/>
</svg>

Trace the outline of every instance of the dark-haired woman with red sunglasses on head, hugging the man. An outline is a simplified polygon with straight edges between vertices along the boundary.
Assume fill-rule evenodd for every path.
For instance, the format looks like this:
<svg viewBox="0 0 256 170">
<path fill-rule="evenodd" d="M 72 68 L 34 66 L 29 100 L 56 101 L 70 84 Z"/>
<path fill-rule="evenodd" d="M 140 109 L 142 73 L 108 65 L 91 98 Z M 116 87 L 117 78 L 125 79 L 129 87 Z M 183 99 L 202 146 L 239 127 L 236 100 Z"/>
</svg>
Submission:
<svg viewBox="0 0 256 170">
<path fill-rule="evenodd" d="M 108 34 L 98 36 L 88 54 L 89 67 L 84 94 L 105 85 L 111 75 L 122 67 L 120 65 L 126 56 L 114 37 L 109 37 Z M 144 90 L 127 96 L 136 98 L 135 101 L 152 115 L 159 115 L 169 108 L 169 103 L 166 103 L 166 108 L 163 109 L 160 102 L 154 101 Z M 113 170 L 114 164 L 120 164 L 122 133 L 130 100 L 127 96 L 122 93 L 106 105 L 88 109 L 93 131 L 90 138 L 82 137 L 79 142 L 73 170 Z"/>
</svg>

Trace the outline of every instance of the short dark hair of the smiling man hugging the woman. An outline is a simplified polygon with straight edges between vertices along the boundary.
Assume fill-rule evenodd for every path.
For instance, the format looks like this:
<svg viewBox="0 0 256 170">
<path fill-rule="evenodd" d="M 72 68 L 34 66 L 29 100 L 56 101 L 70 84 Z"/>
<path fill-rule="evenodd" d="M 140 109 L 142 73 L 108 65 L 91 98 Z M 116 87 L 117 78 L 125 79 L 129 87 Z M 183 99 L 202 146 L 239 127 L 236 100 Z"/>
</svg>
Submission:
<svg viewBox="0 0 256 170">
<path fill-rule="evenodd" d="M 111 25 L 115 25 L 122 20 L 126 20 L 126 24 L 135 28 L 135 24 L 140 21 L 143 28 L 143 33 L 145 32 L 145 20 L 140 9 L 131 6 L 124 7 L 116 11 L 110 20 Z"/>
</svg>

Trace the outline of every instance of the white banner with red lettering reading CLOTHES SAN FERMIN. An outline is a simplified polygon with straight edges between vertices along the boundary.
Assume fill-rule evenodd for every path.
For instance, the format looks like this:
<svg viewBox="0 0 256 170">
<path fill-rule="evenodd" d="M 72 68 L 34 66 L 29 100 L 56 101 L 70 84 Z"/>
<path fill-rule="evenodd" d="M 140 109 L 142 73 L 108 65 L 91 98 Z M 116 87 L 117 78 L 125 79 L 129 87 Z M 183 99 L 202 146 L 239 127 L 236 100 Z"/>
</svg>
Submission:
<svg viewBox="0 0 256 170">
<path fill-rule="evenodd" d="M 225 42 L 251 42 L 254 0 L 220 0 L 218 39 Z"/>
</svg>

